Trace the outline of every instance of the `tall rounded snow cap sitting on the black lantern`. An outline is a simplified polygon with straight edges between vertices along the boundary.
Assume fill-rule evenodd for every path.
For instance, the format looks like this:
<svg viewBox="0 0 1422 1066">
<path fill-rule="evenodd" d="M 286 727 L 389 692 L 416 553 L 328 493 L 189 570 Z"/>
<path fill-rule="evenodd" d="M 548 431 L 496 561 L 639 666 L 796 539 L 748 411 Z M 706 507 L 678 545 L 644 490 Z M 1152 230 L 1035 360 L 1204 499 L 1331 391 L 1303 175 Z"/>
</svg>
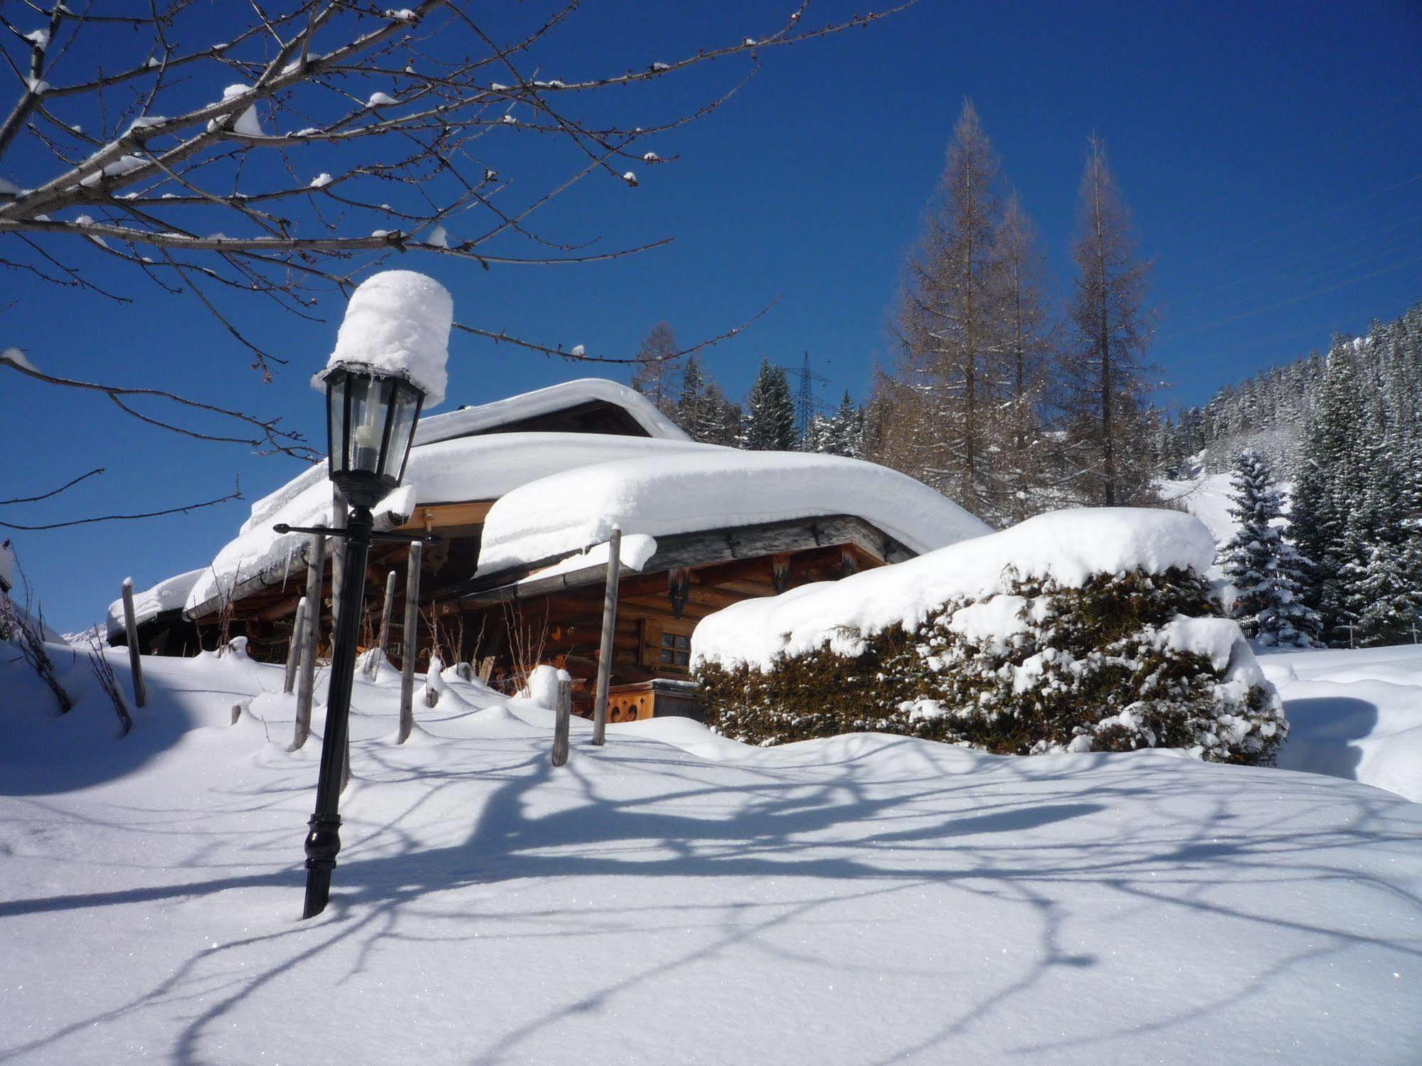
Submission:
<svg viewBox="0 0 1422 1066">
<path fill-rule="evenodd" d="M 351 293 L 336 350 L 313 384 L 337 368 L 405 378 L 425 394 L 425 407 L 444 399 L 454 298 L 432 277 L 414 270 L 383 270 Z"/>
</svg>

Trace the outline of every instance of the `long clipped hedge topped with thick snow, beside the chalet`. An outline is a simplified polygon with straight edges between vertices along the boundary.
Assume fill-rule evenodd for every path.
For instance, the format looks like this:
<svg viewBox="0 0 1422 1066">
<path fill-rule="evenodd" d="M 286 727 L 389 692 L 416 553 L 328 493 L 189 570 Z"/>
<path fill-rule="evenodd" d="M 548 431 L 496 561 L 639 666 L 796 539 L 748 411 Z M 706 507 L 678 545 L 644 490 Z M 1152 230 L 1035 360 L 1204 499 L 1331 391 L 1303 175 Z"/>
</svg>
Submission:
<svg viewBox="0 0 1422 1066">
<path fill-rule="evenodd" d="M 1061 512 L 737 604 L 693 638 L 708 721 L 758 743 L 872 729 L 997 753 L 1270 762 L 1287 723 L 1219 617 L 1212 556 L 1186 515 Z"/>
</svg>

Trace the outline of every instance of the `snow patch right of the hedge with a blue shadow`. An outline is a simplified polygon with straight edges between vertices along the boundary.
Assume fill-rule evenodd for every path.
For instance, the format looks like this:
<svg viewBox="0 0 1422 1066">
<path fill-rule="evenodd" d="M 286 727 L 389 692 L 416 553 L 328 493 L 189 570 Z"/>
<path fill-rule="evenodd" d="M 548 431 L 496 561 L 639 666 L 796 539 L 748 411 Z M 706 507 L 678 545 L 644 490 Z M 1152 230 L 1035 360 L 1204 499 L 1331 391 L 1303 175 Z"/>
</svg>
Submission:
<svg viewBox="0 0 1422 1066">
<path fill-rule="evenodd" d="M 1288 715 L 1280 766 L 1422 803 L 1422 648 L 1280 651 L 1258 661 Z"/>
</svg>

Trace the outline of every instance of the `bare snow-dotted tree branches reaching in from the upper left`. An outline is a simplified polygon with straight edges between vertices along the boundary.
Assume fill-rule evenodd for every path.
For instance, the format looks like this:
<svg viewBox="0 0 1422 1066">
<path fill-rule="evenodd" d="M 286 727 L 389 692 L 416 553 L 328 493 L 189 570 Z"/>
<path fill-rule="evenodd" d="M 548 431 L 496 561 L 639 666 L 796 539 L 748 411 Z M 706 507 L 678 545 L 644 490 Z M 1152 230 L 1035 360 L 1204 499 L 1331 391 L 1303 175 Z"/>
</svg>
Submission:
<svg viewBox="0 0 1422 1066">
<path fill-rule="evenodd" d="M 579 9 L 576 0 L 6 4 L 0 58 L 14 92 L 0 105 L 0 269 L 68 289 L 77 313 L 152 296 L 192 300 L 226 345 L 210 345 L 220 399 L 223 371 L 246 361 L 266 381 L 284 362 L 280 325 L 264 328 L 270 320 L 253 316 L 253 304 L 320 320 L 392 259 L 505 270 L 664 244 L 589 243 L 540 222 L 574 188 L 636 189 L 675 159 L 657 151 L 658 139 L 738 88 L 700 84 L 691 88 L 700 102 L 685 104 L 656 92 L 668 80 L 735 58 L 754 71 L 772 50 L 886 14 L 816 23 L 791 0 L 769 24 L 724 26 L 722 41 L 636 55 L 631 45 L 619 51 L 619 38 L 570 51 L 559 38 L 577 33 Z M 515 335 L 498 307 L 475 314 L 455 330 L 569 360 L 636 361 Z M 144 365 L 132 382 L 81 379 L 11 343 L 0 370 L 104 395 L 189 439 L 319 458 L 279 416 L 178 395 L 142 381 Z"/>
</svg>

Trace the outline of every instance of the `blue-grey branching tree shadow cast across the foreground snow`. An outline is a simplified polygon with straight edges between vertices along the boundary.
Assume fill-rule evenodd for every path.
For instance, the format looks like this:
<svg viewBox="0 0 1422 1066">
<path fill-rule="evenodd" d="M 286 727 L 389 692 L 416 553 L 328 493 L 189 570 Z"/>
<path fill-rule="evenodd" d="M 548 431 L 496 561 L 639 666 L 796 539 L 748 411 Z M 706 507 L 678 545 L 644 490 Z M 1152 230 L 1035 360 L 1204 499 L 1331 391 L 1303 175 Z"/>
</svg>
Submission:
<svg viewBox="0 0 1422 1066">
<path fill-rule="evenodd" d="M 1217 900 L 1216 888 L 1231 881 L 1368 881 L 1349 861 L 1349 849 L 1362 843 L 1415 843 L 1409 824 L 1389 817 L 1396 804 L 1381 796 L 1369 800 L 1357 795 L 1320 795 L 1315 810 L 1300 806 L 1288 816 L 1278 812 L 1241 816 L 1231 770 L 1196 775 L 1183 772 L 1194 769 L 1193 763 L 1167 758 L 1145 762 L 1075 756 L 1000 760 L 961 772 L 961 765 L 954 770 L 950 763 L 937 762 L 940 752 L 934 746 L 903 738 L 875 748 L 876 755 L 899 749 L 906 756 L 894 763 L 904 768 L 902 772 L 877 777 L 862 773 L 853 755 L 813 768 L 714 765 L 674 755 L 656 743 L 627 741 L 603 750 L 580 745 L 566 768 L 553 770 L 542 742 L 526 738 L 476 742 L 499 758 L 479 775 L 486 790 L 475 806 L 475 824 L 459 843 L 427 847 L 402 827 L 428 810 L 438 810 L 437 804 L 451 796 L 464 795 L 454 790 L 471 787 L 459 762 L 454 760 L 449 769 L 427 765 L 410 769 L 400 749 L 363 743 L 357 756 L 363 792 L 411 782 L 422 787 L 384 822 L 367 822 L 358 813 L 347 822 L 346 850 L 327 915 L 196 952 L 122 1006 L 0 1049 L 0 1057 L 55 1048 L 68 1033 L 118 1022 L 134 1011 L 161 1009 L 173 998 L 189 996 L 185 989 L 201 986 L 203 996 L 193 996 L 196 1002 L 185 1015 L 191 1021 L 175 1035 L 171 1055 L 176 1062 L 198 1063 L 205 1060 L 206 1039 L 230 1026 L 233 1011 L 274 982 L 293 979 L 303 989 L 313 982 L 314 986 L 338 984 L 364 972 L 373 954 L 391 941 L 429 935 L 444 942 L 468 938 L 485 945 L 499 938 L 560 942 L 587 935 L 626 938 L 626 968 L 616 974 L 594 972 L 577 986 L 567 982 L 546 1008 L 530 1009 L 528 1018 L 508 1023 L 471 1059 L 513 1062 L 528 1055 L 532 1038 L 550 1026 L 576 1025 L 580 1016 L 646 991 L 673 971 L 729 952 L 738 958 L 759 952 L 761 965 L 791 959 L 796 965 L 843 972 L 843 959 L 818 954 L 802 938 L 796 947 L 786 947 L 766 934 L 812 917 L 840 921 L 845 907 L 857 912 L 899 893 L 943 893 L 946 914 L 953 912 L 954 900 L 974 897 L 1020 908 L 1030 915 L 1017 927 L 1025 932 L 1004 930 L 1003 937 L 1032 961 L 1003 984 L 951 989 L 944 996 L 941 1025 L 926 1038 L 892 1046 L 884 1062 L 917 1053 L 941 1057 L 970 1029 L 995 1013 L 1020 1009 L 1049 975 L 1062 968 L 1096 965 L 1092 954 L 1064 947 L 1064 927 L 1074 918 L 1072 887 L 1081 884 L 1113 897 L 1123 908 L 1167 903 L 1180 920 L 1223 914 L 1244 924 L 1294 930 L 1313 941 L 1307 952 L 1285 954 L 1271 965 L 1260 965 L 1243 986 L 1221 985 L 1209 1002 L 1182 1009 L 1162 1005 L 1159 1016 L 1130 1018 L 1116 1028 L 1108 1021 L 1105 1032 L 1094 1038 L 1103 1045 L 1125 1033 L 1209 1022 L 1213 1011 L 1266 992 L 1278 974 L 1305 957 L 1374 945 L 1422 959 L 1416 941 L 1375 935 L 1365 924 L 1354 927 L 1347 915 L 1330 924 L 1317 917 L 1271 912 L 1266 904 L 1251 910 Z M 309 769 L 293 768 L 292 780 L 277 790 L 287 785 L 292 790 L 309 789 Z M 728 775 L 735 779 L 731 785 Z M 627 787 L 627 780 L 647 786 L 646 795 L 621 802 L 617 789 Z M 229 813 L 240 814 L 243 803 L 269 803 L 270 792 L 232 796 Z M 550 795 L 556 803 L 549 803 Z M 1143 804 L 1136 810 L 1148 810 L 1150 817 L 1123 823 L 1108 813 L 1092 822 L 1128 799 Z M 1314 817 L 1317 810 L 1337 810 L 1340 803 L 1351 809 L 1348 820 L 1328 817 L 1320 823 Z M 282 830 L 293 851 L 299 846 L 297 830 Z M 203 854 L 199 849 L 185 868 L 202 873 Z M 300 870 L 273 868 L 269 858 L 255 864 L 260 867 L 263 861 L 264 868 L 255 873 L 206 867 L 209 877 L 199 883 L 0 903 L 0 918 L 259 887 L 287 890 L 294 914 L 300 905 Z M 633 901 L 621 908 L 592 903 L 597 890 L 577 888 L 577 878 L 617 876 L 717 878 L 720 888 L 711 898 L 698 897 L 684 905 Z M 791 900 L 759 900 L 754 894 L 738 898 L 741 878 L 811 878 L 822 883 L 823 891 L 802 890 Z M 509 907 L 505 898 L 502 904 L 483 907 L 483 894 L 459 891 L 519 881 L 529 881 L 533 894 L 539 885 L 559 884 L 563 890 L 557 898 L 566 904 L 520 910 Z M 1422 901 L 1381 880 L 1376 888 L 1422 918 Z M 418 918 L 418 930 L 410 928 L 407 918 Z M 469 924 L 478 928 L 471 930 Z M 638 951 L 641 942 L 664 948 L 665 941 L 656 940 L 660 932 L 688 927 L 705 935 L 685 937 L 688 945 L 670 958 L 664 949 L 648 949 L 644 957 Z M 249 967 L 240 952 L 262 942 L 274 951 L 277 961 Z M 341 976 L 328 972 L 336 955 L 343 959 L 337 964 Z M 875 972 L 890 972 L 894 967 L 909 962 L 879 959 Z M 300 976 L 293 976 L 297 971 Z M 940 978 L 941 974 L 923 972 L 926 981 Z M 282 995 L 289 999 L 290 991 Z M 448 995 L 459 992 L 451 989 Z M 483 1023 L 499 1026 L 496 1019 Z M 884 1042 L 892 1045 L 894 1036 L 886 1033 Z M 1020 1050 L 1045 1055 L 1068 1043 L 1064 1039 L 1061 1045 L 1024 1045 Z"/>
</svg>

